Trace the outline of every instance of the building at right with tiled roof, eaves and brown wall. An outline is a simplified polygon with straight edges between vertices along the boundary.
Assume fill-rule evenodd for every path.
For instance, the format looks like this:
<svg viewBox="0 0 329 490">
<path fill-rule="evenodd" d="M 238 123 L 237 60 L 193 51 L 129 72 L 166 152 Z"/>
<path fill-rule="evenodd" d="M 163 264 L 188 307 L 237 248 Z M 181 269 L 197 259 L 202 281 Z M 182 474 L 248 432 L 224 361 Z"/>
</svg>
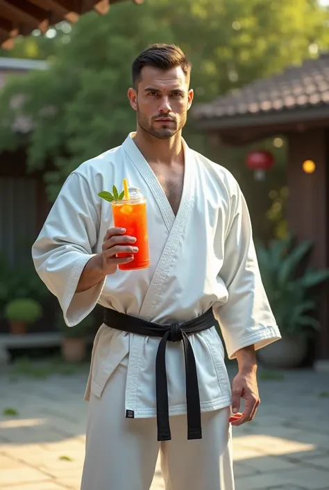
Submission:
<svg viewBox="0 0 329 490">
<path fill-rule="evenodd" d="M 312 240 L 315 268 L 329 267 L 329 54 L 287 67 L 269 79 L 199 104 L 193 111 L 199 131 L 219 145 L 246 145 L 273 136 L 288 143 L 289 229 Z M 219 149 L 220 151 L 220 149 Z M 303 163 L 312 161 L 307 173 Z M 319 359 L 329 361 L 329 285 L 319 311 Z"/>
</svg>

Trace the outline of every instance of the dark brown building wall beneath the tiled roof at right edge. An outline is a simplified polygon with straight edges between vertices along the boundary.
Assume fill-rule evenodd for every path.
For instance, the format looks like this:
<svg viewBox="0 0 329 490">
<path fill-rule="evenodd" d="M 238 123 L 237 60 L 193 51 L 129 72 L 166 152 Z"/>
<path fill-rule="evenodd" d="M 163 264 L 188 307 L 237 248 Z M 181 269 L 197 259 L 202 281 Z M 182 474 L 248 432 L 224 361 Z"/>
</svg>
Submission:
<svg viewBox="0 0 329 490">
<path fill-rule="evenodd" d="M 329 267 L 329 129 L 291 133 L 287 165 L 289 229 L 299 241 L 312 240 L 311 263 Z M 303 172 L 303 161 L 316 163 L 313 174 Z M 319 359 L 329 359 L 329 285 L 321 288 Z"/>
</svg>

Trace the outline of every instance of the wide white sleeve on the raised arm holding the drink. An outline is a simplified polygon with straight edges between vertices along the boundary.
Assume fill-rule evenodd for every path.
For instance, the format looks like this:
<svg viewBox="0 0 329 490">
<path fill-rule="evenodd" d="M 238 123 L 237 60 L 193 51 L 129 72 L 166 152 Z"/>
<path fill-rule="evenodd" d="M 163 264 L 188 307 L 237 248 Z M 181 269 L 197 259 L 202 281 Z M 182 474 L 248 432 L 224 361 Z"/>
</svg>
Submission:
<svg viewBox="0 0 329 490">
<path fill-rule="evenodd" d="M 96 306 L 105 279 L 76 293 L 81 273 L 94 256 L 99 215 L 85 177 L 72 173 L 60 190 L 32 247 L 35 270 L 58 298 L 66 324 L 77 325 Z"/>
</svg>

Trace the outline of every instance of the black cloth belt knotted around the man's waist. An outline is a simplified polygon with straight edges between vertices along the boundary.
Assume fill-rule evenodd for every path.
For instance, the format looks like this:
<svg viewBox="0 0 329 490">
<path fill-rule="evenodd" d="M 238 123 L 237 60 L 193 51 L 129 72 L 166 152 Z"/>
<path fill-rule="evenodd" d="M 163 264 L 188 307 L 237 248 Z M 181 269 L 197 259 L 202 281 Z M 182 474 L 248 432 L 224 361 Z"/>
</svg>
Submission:
<svg viewBox="0 0 329 490">
<path fill-rule="evenodd" d="M 104 323 L 108 327 L 132 334 L 162 337 L 155 362 L 158 441 L 169 441 L 171 439 L 165 359 L 166 345 L 167 341 L 183 341 L 186 377 L 187 439 L 201 439 L 201 407 L 198 376 L 196 373 L 194 352 L 187 334 L 196 334 L 217 324 L 217 320 L 215 320 L 214 314 L 212 313 L 212 308 L 199 316 L 199 318 L 185 322 L 183 325 L 179 325 L 178 323 L 159 325 L 158 323 L 142 320 L 142 318 L 119 313 L 110 308 L 105 308 L 104 310 Z M 128 418 L 133 417 L 133 413 L 126 414 L 126 416 Z"/>
</svg>

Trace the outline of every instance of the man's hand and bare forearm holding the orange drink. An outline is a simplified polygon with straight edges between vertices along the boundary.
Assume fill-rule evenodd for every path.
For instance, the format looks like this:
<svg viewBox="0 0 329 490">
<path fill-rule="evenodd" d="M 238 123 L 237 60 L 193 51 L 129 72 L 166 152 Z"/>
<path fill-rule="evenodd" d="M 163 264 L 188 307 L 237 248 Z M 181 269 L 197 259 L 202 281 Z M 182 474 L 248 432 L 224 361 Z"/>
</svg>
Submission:
<svg viewBox="0 0 329 490">
<path fill-rule="evenodd" d="M 131 262 L 138 248 L 134 246 L 136 238 L 124 235 L 124 228 L 110 228 L 104 236 L 102 252 L 94 255 L 88 261 L 81 273 L 76 287 L 76 293 L 87 291 L 107 275 L 114 274 L 120 263 Z M 118 257 L 117 254 L 129 254 L 126 257 Z"/>
</svg>

